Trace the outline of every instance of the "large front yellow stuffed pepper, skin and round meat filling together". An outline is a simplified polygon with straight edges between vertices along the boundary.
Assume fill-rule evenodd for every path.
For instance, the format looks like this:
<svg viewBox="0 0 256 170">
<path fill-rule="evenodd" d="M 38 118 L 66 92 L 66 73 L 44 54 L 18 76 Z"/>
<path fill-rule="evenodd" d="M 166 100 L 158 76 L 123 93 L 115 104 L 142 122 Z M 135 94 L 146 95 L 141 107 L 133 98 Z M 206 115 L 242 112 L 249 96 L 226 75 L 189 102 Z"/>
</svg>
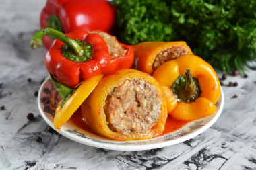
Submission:
<svg viewBox="0 0 256 170">
<path fill-rule="evenodd" d="M 166 101 L 158 81 L 123 69 L 104 77 L 82 104 L 91 130 L 115 140 L 152 138 L 164 130 Z"/>
</svg>

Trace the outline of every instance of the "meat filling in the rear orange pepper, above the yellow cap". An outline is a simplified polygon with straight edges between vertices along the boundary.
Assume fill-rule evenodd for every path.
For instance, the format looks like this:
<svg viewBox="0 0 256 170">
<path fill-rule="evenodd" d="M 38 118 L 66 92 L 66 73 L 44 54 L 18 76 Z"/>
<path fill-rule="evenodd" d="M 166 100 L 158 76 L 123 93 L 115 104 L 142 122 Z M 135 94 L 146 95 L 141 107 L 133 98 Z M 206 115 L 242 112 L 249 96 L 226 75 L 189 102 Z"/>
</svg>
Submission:
<svg viewBox="0 0 256 170">
<path fill-rule="evenodd" d="M 163 50 L 156 56 L 152 69 L 156 70 L 156 68 L 164 64 L 164 62 L 173 60 L 185 54 L 190 54 L 189 50 L 185 46 L 172 46 L 166 50 Z"/>
</svg>

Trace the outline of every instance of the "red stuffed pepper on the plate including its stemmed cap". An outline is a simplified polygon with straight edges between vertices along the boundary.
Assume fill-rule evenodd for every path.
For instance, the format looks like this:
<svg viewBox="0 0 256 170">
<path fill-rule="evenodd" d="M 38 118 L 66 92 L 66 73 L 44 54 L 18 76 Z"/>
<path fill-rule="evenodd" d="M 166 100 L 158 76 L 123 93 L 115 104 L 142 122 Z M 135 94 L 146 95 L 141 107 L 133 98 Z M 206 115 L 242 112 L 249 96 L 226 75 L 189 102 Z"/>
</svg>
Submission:
<svg viewBox="0 0 256 170">
<path fill-rule="evenodd" d="M 121 44 L 104 32 L 75 30 L 65 35 L 53 28 L 43 28 L 42 32 L 57 38 L 44 58 L 46 68 L 68 87 L 74 88 L 92 76 L 110 75 L 132 65 L 133 46 Z"/>
</svg>

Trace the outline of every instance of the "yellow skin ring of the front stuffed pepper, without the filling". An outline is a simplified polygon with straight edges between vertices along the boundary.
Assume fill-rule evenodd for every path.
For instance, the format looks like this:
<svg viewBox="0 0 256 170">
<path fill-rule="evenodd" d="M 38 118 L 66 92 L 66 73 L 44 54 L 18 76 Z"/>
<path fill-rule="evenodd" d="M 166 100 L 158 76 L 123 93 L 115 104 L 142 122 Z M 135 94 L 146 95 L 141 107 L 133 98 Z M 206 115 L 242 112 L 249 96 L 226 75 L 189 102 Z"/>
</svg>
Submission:
<svg viewBox="0 0 256 170">
<path fill-rule="evenodd" d="M 143 134 L 132 134 L 128 136 L 118 132 L 113 132 L 110 130 L 110 128 L 108 128 L 106 114 L 104 112 L 104 105 L 108 94 L 111 93 L 115 87 L 117 87 L 119 82 L 127 79 L 133 80 L 134 78 L 142 79 L 143 81 L 154 85 L 156 87 L 156 91 L 162 96 L 162 105 L 158 122 L 152 127 L 150 132 L 145 132 Z M 88 99 L 82 103 L 81 108 L 82 114 L 90 129 L 101 136 L 113 140 L 141 140 L 152 138 L 156 134 L 163 132 L 167 118 L 166 102 L 159 83 L 150 75 L 133 69 L 123 69 L 115 72 L 114 75 L 104 77 L 98 83 L 94 91 L 92 91 Z"/>
</svg>

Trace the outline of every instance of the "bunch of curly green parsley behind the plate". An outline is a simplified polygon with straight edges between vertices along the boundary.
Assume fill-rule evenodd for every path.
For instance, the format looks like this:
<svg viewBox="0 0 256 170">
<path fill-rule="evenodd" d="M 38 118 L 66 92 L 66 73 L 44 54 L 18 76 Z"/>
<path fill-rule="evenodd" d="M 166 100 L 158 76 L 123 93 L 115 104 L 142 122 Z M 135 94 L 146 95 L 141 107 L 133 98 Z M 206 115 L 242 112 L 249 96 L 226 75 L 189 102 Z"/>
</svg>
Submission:
<svg viewBox="0 0 256 170">
<path fill-rule="evenodd" d="M 114 0 L 117 29 L 127 44 L 183 40 L 214 67 L 243 71 L 256 60 L 256 1 Z"/>
</svg>

